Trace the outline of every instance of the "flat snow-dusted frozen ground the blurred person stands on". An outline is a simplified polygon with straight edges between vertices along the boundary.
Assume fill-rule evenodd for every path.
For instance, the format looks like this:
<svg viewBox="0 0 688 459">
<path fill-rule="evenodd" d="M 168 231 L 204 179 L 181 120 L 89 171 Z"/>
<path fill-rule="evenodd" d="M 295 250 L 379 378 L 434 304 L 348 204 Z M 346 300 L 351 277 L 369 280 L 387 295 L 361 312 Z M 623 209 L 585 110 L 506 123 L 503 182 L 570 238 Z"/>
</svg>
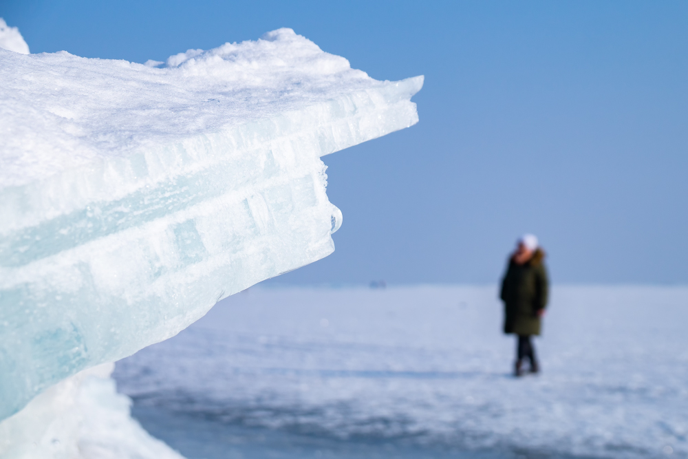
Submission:
<svg viewBox="0 0 688 459">
<path fill-rule="evenodd" d="M 555 286 L 521 379 L 496 296 L 252 288 L 114 377 L 189 459 L 688 457 L 688 288 Z"/>
</svg>

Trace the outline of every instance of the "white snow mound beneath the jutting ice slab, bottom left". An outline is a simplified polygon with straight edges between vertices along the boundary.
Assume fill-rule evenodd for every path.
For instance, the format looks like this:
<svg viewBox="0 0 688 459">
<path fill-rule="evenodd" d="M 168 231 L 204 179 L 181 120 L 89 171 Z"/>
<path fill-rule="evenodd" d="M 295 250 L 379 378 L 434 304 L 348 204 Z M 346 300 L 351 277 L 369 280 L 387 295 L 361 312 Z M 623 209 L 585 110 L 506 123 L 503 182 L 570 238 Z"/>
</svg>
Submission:
<svg viewBox="0 0 688 459">
<path fill-rule="evenodd" d="M 131 399 L 109 378 L 113 363 L 50 387 L 0 423 L 3 459 L 182 459 L 129 416 Z"/>
</svg>

